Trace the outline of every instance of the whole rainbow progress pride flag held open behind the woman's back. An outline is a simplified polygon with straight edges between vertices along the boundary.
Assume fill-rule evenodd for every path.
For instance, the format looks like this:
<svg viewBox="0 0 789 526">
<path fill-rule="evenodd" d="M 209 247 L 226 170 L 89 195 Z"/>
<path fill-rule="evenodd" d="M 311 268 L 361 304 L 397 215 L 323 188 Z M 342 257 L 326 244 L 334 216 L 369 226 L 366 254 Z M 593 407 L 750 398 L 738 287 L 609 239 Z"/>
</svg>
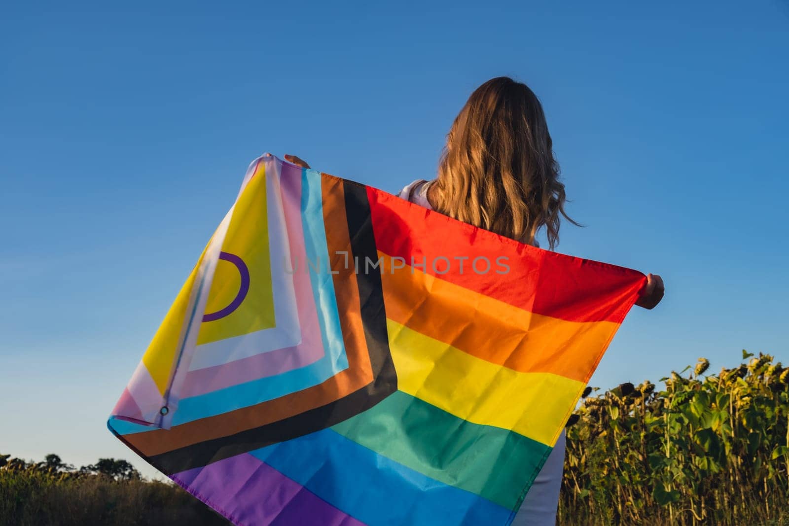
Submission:
<svg viewBox="0 0 789 526">
<path fill-rule="evenodd" d="M 234 524 L 510 524 L 644 284 L 264 156 L 108 426 Z"/>
</svg>

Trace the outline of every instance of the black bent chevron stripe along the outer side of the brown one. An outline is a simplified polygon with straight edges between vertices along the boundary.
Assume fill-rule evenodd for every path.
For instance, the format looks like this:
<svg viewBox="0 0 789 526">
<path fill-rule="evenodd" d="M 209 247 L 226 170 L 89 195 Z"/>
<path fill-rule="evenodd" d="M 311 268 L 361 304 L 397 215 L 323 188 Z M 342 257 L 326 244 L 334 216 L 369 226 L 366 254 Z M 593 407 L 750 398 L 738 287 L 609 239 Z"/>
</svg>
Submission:
<svg viewBox="0 0 789 526">
<path fill-rule="evenodd" d="M 372 232 L 366 188 L 351 181 L 343 181 L 343 188 L 345 188 L 346 218 L 353 256 L 358 256 L 360 261 L 365 261 L 365 257 L 376 261 L 378 252 Z M 394 393 L 397 390 L 397 375 L 389 350 L 380 269 L 365 273 L 364 267 L 360 268 L 357 272 L 357 284 L 361 321 L 372 365 L 372 382 L 337 401 L 284 420 L 160 453 L 146 460 L 166 474 L 198 468 L 331 427 L 335 423 L 372 408 Z M 265 403 L 261 404 L 260 410 L 265 411 Z"/>
</svg>

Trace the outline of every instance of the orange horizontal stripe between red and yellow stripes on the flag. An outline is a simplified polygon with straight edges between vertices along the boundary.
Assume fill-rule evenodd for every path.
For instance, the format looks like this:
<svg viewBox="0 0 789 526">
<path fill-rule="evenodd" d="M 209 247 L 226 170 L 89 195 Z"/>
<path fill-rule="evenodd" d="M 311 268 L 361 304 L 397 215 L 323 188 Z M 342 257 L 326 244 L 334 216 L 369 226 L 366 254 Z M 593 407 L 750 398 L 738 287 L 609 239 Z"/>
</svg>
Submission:
<svg viewBox="0 0 789 526">
<path fill-rule="evenodd" d="M 587 382 L 619 323 L 568 322 L 424 274 L 383 257 L 387 318 L 493 364 Z M 395 261 L 398 266 L 401 263 Z"/>
</svg>

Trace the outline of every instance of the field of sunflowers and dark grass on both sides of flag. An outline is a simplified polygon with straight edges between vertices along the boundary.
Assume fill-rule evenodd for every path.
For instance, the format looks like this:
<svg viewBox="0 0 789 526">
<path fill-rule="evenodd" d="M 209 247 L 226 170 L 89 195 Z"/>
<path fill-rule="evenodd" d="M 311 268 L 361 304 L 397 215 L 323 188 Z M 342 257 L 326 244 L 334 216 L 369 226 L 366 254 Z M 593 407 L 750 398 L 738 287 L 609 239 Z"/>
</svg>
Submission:
<svg viewBox="0 0 789 526">
<path fill-rule="evenodd" d="M 567 428 L 559 524 L 789 524 L 789 368 L 742 352 L 587 396 Z M 125 461 L 0 455 L 0 526 L 227 524 Z"/>
</svg>

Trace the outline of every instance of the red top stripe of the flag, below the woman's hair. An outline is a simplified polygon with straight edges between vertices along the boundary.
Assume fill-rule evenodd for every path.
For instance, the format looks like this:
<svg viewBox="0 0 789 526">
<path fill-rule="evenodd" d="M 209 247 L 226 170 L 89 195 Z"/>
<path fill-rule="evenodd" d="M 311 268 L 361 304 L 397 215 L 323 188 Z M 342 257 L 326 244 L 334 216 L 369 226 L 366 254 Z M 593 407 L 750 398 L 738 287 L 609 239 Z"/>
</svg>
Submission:
<svg viewBox="0 0 789 526">
<path fill-rule="evenodd" d="M 526 311 L 622 323 L 646 282 L 638 270 L 518 243 L 376 188 L 368 187 L 368 199 L 381 252 L 408 264 L 426 260 L 424 272 Z"/>
</svg>

